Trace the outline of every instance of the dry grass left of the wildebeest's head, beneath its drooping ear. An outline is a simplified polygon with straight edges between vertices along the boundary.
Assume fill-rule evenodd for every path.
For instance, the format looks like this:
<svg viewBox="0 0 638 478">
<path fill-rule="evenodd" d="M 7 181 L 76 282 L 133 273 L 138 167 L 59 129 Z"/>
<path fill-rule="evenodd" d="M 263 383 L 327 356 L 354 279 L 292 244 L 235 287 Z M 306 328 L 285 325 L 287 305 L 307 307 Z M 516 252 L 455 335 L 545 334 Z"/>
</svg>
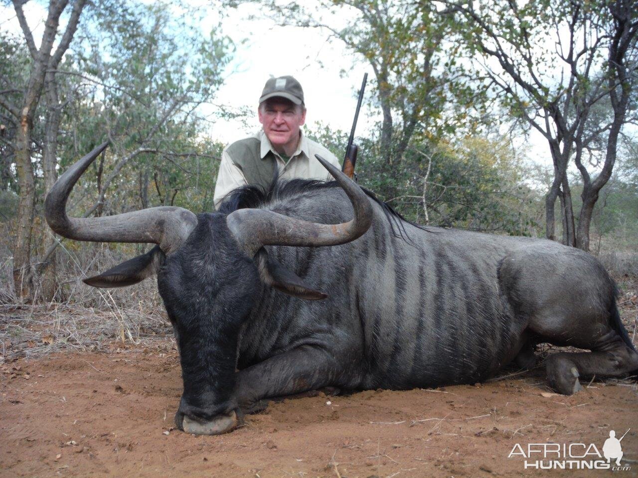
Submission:
<svg viewBox="0 0 638 478">
<path fill-rule="evenodd" d="M 59 273 L 58 296 L 63 300 L 50 303 L 18 303 L 11 284 L 11 257 L 4 256 L 8 258 L 0 263 L 0 361 L 101 350 L 114 344 L 172 346 L 172 328 L 155 279 L 121 289 L 96 289 L 82 282 L 140 250 L 131 245 L 82 244 L 60 251 L 61 263 L 66 264 Z M 36 283 L 36 298 L 39 294 Z"/>
</svg>

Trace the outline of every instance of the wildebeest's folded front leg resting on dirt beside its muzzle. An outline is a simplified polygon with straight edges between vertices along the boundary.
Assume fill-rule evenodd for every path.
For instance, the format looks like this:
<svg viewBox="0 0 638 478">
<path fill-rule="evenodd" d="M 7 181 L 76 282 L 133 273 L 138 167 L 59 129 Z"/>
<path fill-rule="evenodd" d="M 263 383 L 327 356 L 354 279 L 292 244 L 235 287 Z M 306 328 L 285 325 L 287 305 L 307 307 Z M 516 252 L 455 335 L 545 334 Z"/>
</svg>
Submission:
<svg viewBox="0 0 638 478">
<path fill-rule="evenodd" d="M 241 370 L 237 403 L 244 412 L 265 409 L 267 398 L 339 386 L 336 360 L 320 347 L 304 345 Z"/>
</svg>

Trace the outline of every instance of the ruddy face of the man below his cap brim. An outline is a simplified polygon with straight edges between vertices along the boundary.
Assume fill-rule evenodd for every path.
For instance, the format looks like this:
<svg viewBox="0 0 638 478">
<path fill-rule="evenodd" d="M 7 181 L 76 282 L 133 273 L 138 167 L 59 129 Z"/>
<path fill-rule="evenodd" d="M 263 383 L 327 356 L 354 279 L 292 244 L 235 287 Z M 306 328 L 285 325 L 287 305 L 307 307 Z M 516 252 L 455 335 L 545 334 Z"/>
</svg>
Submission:
<svg viewBox="0 0 638 478">
<path fill-rule="evenodd" d="M 292 153 L 299 141 L 299 127 L 306 122 L 306 110 L 285 98 L 271 98 L 258 112 L 263 132 L 275 150 Z"/>
</svg>

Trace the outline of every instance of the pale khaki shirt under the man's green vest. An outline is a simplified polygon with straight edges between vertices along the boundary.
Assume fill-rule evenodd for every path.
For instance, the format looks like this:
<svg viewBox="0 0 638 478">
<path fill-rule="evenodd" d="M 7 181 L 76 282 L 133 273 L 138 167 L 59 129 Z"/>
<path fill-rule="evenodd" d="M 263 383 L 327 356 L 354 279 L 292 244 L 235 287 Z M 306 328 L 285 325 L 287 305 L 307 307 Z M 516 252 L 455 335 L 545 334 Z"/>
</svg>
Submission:
<svg viewBox="0 0 638 478">
<path fill-rule="evenodd" d="M 309 138 L 306 138 L 304 133 L 301 133 L 299 145 L 297 150 L 290 157 L 288 163 L 286 163 L 278 152 L 274 150 L 271 145 L 271 141 L 263 131 L 256 133 L 254 138 L 260 140 L 260 156 L 262 159 L 268 154 L 269 151 L 274 154 L 277 160 L 277 168 L 279 170 L 279 177 L 283 179 L 303 178 L 303 179 L 320 179 L 320 180 L 332 180 L 330 173 L 316 160 L 315 154 L 323 157 L 326 161 L 334 164 L 339 170 L 341 165 L 339 160 L 329 150 L 322 145 L 316 143 Z M 219 208 L 221 200 L 228 194 L 228 192 L 242 185 L 248 184 L 246 177 L 242 173 L 241 169 L 234 163 L 230 154 L 228 154 L 228 147 L 225 148 L 221 154 L 221 163 L 219 164 L 219 174 L 217 182 L 215 184 L 215 192 L 213 195 L 213 201 L 215 209 Z"/>
</svg>

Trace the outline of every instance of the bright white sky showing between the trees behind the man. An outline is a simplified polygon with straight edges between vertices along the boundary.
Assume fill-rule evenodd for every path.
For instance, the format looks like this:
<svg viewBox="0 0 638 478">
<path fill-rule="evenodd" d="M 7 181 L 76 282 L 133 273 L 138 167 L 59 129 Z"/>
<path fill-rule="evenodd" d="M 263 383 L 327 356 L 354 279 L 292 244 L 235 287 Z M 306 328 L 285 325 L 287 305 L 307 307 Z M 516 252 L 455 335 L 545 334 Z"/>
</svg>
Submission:
<svg viewBox="0 0 638 478">
<path fill-rule="evenodd" d="M 205 0 L 189 1 L 207 6 L 212 4 Z M 45 4 L 30 1 L 24 11 L 38 44 L 46 18 Z M 198 25 L 205 35 L 219 20 L 216 10 L 211 8 L 209 11 L 209 16 Z M 349 132 L 363 75 L 368 73 L 369 78 L 374 77 L 371 67 L 360 61 L 341 41 L 330 40 L 327 31 L 280 27 L 263 18 L 248 20 L 250 15 L 259 14 L 254 4 L 242 4 L 239 8 L 224 11 L 222 33 L 234 41 L 237 50 L 226 69 L 225 84 L 218 92 L 216 103 L 230 108 L 248 106 L 255 110 L 255 117 L 248 125 L 238 120 L 219 120 L 211 126 L 211 138 L 228 144 L 257 131 L 260 124 L 256 117 L 256 103 L 263 85 L 270 76 L 283 75 L 293 75 L 302 84 L 308 108 L 307 126 L 313 129 L 321 123 Z M 13 6 L 0 6 L 0 18 L 1 30 L 22 35 Z M 370 95 L 368 87 L 357 134 L 365 134 L 379 120 L 378 112 L 366 105 Z M 521 137 L 518 143 L 521 145 L 523 142 Z M 530 136 L 526 152 L 531 161 L 547 164 L 547 146 L 539 134 Z"/>
</svg>

